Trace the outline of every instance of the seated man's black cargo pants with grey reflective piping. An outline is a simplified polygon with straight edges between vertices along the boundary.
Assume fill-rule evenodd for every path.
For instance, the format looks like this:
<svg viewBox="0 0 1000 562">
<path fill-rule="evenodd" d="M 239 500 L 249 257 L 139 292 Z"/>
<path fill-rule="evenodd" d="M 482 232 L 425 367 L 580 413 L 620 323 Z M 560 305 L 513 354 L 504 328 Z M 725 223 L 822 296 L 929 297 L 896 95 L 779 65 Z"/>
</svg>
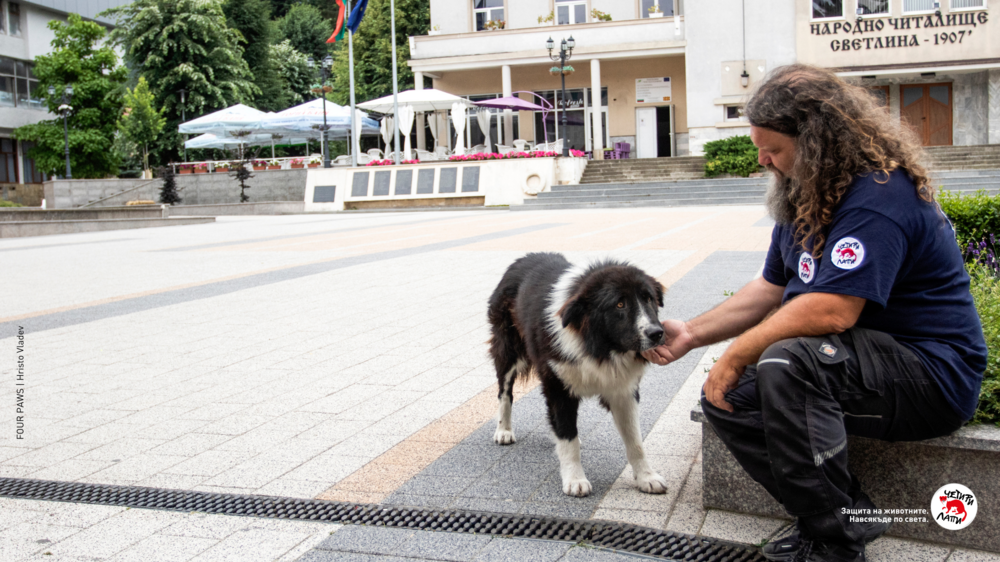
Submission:
<svg viewBox="0 0 1000 562">
<path fill-rule="evenodd" d="M 704 395 L 701 403 L 740 465 L 799 518 L 805 536 L 858 552 L 863 529 L 842 512 L 860 491 L 847 469 L 847 436 L 916 441 L 965 421 L 912 351 L 862 328 L 775 343 L 726 401 L 734 412 Z"/>
</svg>

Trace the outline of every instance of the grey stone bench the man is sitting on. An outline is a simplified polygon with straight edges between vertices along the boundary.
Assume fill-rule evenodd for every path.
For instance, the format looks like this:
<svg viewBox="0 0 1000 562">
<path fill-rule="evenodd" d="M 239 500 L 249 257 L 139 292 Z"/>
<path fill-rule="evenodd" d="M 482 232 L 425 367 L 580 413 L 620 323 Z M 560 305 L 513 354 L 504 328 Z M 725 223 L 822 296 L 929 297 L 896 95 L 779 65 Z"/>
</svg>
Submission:
<svg viewBox="0 0 1000 562">
<path fill-rule="evenodd" d="M 763 486 L 743 471 L 700 406 L 691 412 L 691 419 L 702 424 L 705 508 L 788 518 Z M 926 522 L 895 522 L 889 535 L 1000 552 L 1000 428 L 968 426 L 947 437 L 910 443 L 854 436 L 847 442 L 851 471 L 875 505 L 927 510 L 926 516 L 916 516 L 926 517 Z M 960 531 L 948 531 L 933 521 L 932 495 L 945 484 L 968 487 L 979 502 L 975 520 Z"/>
</svg>

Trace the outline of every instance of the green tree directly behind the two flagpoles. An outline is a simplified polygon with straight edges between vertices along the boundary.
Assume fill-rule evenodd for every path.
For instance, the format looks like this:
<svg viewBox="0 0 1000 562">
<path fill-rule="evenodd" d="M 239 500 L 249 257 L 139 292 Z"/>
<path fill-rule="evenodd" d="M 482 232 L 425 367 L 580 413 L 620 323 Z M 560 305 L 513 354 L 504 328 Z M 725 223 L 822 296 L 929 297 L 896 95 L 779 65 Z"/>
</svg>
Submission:
<svg viewBox="0 0 1000 562">
<path fill-rule="evenodd" d="M 361 27 L 354 36 L 354 82 L 357 101 L 392 93 L 392 32 L 389 0 L 370 0 Z M 399 89 L 412 88 L 411 35 L 426 35 L 430 29 L 430 6 L 426 0 L 396 0 L 396 58 Z M 346 43 L 347 41 L 344 41 Z M 347 45 L 338 45 L 333 65 L 334 101 L 348 103 L 350 76 Z"/>
</svg>

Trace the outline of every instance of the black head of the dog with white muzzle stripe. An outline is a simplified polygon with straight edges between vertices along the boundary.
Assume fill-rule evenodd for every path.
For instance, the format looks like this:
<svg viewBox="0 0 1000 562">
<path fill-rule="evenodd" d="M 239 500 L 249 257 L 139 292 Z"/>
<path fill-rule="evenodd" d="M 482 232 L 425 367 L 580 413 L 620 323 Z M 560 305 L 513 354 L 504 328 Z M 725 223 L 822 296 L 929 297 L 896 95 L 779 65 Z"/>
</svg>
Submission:
<svg viewBox="0 0 1000 562">
<path fill-rule="evenodd" d="M 617 262 L 589 267 L 559 311 L 595 357 L 610 352 L 645 351 L 664 341 L 658 318 L 663 285 L 641 269 Z"/>
</svg>

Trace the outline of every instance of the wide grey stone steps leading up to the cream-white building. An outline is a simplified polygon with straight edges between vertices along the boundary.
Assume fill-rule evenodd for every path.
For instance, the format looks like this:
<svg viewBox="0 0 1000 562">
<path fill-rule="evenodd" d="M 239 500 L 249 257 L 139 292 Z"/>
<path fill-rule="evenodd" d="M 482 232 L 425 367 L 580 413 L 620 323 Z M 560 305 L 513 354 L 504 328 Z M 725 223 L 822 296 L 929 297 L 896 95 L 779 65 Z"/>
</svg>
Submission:
<svg viewBox="0 0 1000 562">
<path fill-rule="evenodd" d="M 934 186 L 941 190 L 1000 191 L 1000 145 L 928 149 Z M 649 158 L 587 164 L 579 185 L 557 185 L 511 210 L 759 205 L 767 177 L 704 177 L 704 159 Z"/>
</svg>

